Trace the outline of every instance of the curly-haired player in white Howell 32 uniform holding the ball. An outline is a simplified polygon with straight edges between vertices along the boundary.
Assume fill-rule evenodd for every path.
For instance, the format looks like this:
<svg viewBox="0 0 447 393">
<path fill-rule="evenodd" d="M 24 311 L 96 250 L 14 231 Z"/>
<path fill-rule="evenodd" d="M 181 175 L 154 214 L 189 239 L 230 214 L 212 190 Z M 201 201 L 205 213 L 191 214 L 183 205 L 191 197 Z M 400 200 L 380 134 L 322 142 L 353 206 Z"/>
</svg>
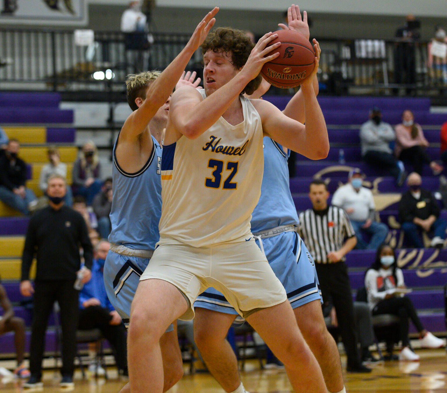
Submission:
<svg viewBox="0 0 447 393">
<path fill-rule="evenodd" d="M 217 29 L 202 45 L 205 90 L 173 94 L 161 162 L 160 241 L 135 294 L 129 326 L 132 393 L 163 389 L 159 340 L 177 318 L 194 317 L 207 287 L 224 294 L 283 361 L 296 392 L 324 392 L 315 357 L 286 292 L 250 232 L 260 196 L 263 136 L 312 159 L 329 140 L 312 80 L 302 85 L 306 126 L 262 100 L 249 100 L 261 67 L 278 57 L 276 34 L 253 45 L 244 32 Z"/>
</svg>

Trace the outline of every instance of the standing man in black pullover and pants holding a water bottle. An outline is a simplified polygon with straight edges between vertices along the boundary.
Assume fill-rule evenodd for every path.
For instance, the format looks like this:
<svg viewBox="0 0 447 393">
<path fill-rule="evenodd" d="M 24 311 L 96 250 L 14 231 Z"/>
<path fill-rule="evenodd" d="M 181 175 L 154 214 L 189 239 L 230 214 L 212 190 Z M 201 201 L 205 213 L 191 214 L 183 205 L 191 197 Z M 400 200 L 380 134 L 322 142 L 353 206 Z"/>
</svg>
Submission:
<svg viewBox="0 0 447 393">
<path fill-rule="evenodd" d="M 79 291 L 73 285 L 80 270 L 79 248 L 84 250 L 83 282 L 91 276 L 93 250 L 84 218 L 70 207 L 64 206 L 65 179 L 52 175 L 46 194 L 50 206 L 37 211 L 26 232 L 22 257 L 20 291 L 23 296 L 34 293 L 34 318 L 30 344 L 30 380 L 28 388 L 42 386 L 42 356 L 48 317 L 57 300 L 63 334 L 61 386 L 73 385 L 74 358 L 76 355 L 76 329 L 78 326 Z M 30 282 L 30 267 L 37 254 L 37 272 Z"/>
</svg>

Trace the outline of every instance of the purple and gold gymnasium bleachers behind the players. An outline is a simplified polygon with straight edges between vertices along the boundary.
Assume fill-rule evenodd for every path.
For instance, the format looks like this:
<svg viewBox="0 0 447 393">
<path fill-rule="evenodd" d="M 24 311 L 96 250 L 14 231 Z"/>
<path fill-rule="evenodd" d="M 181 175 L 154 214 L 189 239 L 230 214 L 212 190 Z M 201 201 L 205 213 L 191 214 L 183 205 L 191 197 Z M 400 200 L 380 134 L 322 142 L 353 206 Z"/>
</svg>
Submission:
<svg viewBox="0 0 447 393">
<path fill-rule="evenodd" d="M 280 109 L 284 108 L 289 99 L 283 96 L 265 98 Z M 383 174 L 361 162 L 358 130 L 360 124 L 367 120 L 371 106 L 382 108 L 384 121 L 392 125 L 400 122 L 402 110 L 412 109 L 416 121 L 422 124 L 426 138 L 430 142 L 428 148 L 430 155 L 434 159 L 439 159 L 439 127 L 447 120 L 447 115 L 431 113 L 428 98 L 319 97 L 319 102 L 328 124 L 331 149 L 325 160 L 311 161 L 302 156 L 297 159 L 296 176 L 290 180 L 297 210 L 302 211 L 311 207 L 307 194 L 308 185 L 314 176 L 326 179 L 329 190 L 333 192 L 339 184 L 346 182 L 347 173 L 352 167 L 362 168 L 367 173 L 365 184 L 371 186 L 375 193 L 380 220 L 391 228 L 387 240 L 392 245 L 404 247 L 398 251 L 398 255 L 400 266 L 405 268 L 405 283 L 414 289 L 409 296 L 426 328 L 445 336 L 442 287 L 447 282 L 447 262 L 445 262 L 447 250 L 405 249 L 405 238 L 396 220 L 396 203 L 405 186 L 397 187 L 392 177 L 382 176 Z M 73 112 L 60 110 L 59 104 L 58 93 L 0 93 L 0 125 L 4 127 L 9 138 L 17 138 L 21 142 L 20 156 L 29 164 L 27 186 L 38 196 L 42 195 L 38 188 L 38 177 L 42 165 L 47 161 L 48 144 L 56 144 L 59 147 L 61 161 L 68 166 L 69 182 L 72 163 L 76 160 Z M 345 163 L 338 162 L 340 149 L 344 152 Z M 434 177 L 429 169 L 423 177 L 423 186 L 432 191 L 438 189 L 439 178 Z M 444 211 L 443 215 L 446 214 Z M 32 310 L 26 307 L 26 304 L 21 305 L 23 298 L 19 292 L 18 280 L 28 221 L 27 217 L 20 216 L 0 203 L 0 275 L 14 304 L 14 312 L 25 319 L 28 327 L 27 350 Z M 363 286 L 364 272 L 373 262 L 374 256 L 374 250 L 354 250 L 347 255 L 354 297 L 355 290 Z M 49 326 L 46 334 L 46 351 L 53 352 L 57 346 L 53 316 Z M 0 348 L 1 355 L 13 355 L 12 334 L 0 336 Z"/>
</svg>

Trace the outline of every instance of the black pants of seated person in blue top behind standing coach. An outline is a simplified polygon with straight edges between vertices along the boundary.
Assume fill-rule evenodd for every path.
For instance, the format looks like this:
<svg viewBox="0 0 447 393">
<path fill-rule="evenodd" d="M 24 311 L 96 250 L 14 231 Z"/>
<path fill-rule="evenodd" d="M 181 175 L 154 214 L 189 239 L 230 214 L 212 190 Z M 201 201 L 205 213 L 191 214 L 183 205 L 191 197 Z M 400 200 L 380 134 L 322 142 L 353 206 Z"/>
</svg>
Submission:
<svg viewBox="0 0 447 393">
<path fill-rule="evenodd" d="M 112 316 L 101 306 L 91 306 L 79 310 L 79 329 L 99 329 L 114 349 L 116 365 L 127 372 L 126 328 L 123 324 L 109 325 Z"/>
</svg>

